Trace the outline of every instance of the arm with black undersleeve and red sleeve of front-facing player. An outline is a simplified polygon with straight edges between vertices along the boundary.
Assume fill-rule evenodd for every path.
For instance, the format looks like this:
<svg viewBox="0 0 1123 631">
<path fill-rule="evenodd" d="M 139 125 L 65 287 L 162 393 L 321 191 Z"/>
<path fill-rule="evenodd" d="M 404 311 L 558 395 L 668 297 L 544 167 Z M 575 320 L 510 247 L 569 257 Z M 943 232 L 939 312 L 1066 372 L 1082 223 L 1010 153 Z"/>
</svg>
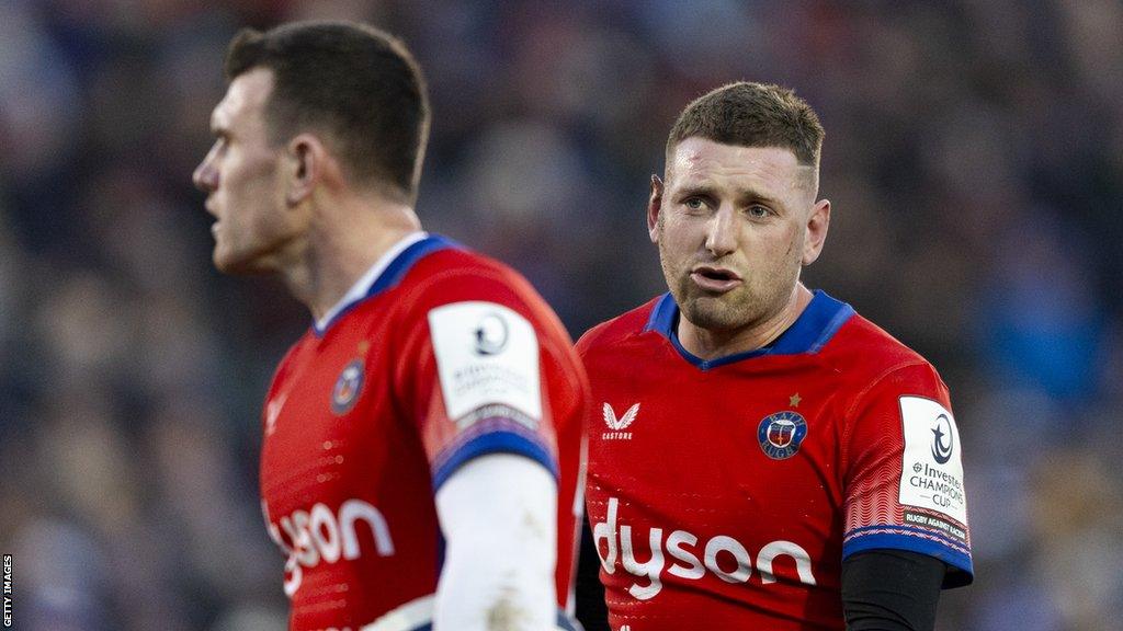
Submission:
<svg viewBox="0 0 1123 631">
<path fill-rule="evenodd" d="M 875 379 L 843 439 L 848 631 L 931 631 L 940 589 L 971 579 L 959 433 L 923 362 Z"/>
</svg>

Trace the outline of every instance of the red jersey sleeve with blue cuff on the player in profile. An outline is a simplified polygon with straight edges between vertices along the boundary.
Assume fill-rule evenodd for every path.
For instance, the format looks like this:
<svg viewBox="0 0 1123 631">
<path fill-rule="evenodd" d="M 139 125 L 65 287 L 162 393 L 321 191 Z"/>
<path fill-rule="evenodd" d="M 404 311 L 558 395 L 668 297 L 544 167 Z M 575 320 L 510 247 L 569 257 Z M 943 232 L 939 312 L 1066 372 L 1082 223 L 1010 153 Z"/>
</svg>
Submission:
<svg viewBox="0 0 1123 631">
<path fill-rule="evenodd" d="M 550 392 L 565 375 L 530 302 L 502 276 L 457 274 L 428 284 L 408 310 L 400 390 L 435 491 L 487 454 L 526 456 L 557 477 Z"/>
</svg>

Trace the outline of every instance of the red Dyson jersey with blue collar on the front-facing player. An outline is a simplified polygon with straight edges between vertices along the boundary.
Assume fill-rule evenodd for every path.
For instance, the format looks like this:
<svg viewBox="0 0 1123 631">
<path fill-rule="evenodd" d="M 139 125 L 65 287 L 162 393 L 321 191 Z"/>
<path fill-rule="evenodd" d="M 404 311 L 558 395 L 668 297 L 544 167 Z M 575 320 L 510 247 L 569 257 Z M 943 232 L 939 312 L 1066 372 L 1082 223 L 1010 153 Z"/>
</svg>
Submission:
<svg viewBox="0 0 1123 631">
<path fill-rule="evenodd" d="M 613 630 L 841 630 L 842 560 L 875 548 L 970 582 L 959 433 L 928 362 L 822 292 L 719 359 L 677 322 L 666 294 L 577 342 Z"/>
</svg>

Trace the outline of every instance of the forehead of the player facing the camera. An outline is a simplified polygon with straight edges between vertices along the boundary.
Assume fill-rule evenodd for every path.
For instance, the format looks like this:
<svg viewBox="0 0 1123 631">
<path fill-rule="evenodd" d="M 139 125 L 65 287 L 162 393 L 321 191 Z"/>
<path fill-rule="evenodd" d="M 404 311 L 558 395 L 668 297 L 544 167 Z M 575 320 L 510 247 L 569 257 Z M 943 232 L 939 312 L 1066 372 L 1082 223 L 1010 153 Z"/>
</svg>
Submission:
<svg viewBox="0 0 1123 631">
<path fill-rule="evenodd" d="M 728 186 L 774 192 L 801 186 L 813 167 L 800 164 L 786 147 L 745 147 L 691 137 L 667 156 L 672 186 Z"/>
</svg>

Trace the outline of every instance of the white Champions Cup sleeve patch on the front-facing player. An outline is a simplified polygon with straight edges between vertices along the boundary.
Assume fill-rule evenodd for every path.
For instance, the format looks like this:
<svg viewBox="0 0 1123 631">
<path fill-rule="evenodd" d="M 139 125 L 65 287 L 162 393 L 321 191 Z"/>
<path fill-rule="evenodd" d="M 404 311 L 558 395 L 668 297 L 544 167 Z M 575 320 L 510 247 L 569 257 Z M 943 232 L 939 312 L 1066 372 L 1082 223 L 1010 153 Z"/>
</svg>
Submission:
<svg viewBox="0 0 1123 631">
<path fill-rule="evenodd" d="M 967 523 L 959 429 L 951 412 L 922 396 L 901 397 L 904 460 L 900 502 Z"/>
</svg>

